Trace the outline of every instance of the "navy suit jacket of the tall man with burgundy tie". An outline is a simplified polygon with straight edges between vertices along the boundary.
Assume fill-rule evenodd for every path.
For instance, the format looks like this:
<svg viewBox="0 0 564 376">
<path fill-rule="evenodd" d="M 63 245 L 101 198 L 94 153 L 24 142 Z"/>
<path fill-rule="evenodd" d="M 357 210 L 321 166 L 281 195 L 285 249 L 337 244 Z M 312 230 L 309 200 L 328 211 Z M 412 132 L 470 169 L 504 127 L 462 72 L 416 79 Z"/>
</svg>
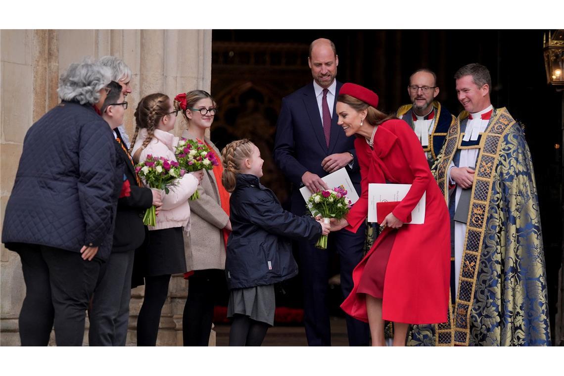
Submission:
<svg viewBox="0 0 564 376">
<path fill-rule="evenodd" d="M 302 175 L 310 171 L 323 178 L 327 172 L 321 167 L 321 161 L 334 153 L 349 152 L 354 156 L 352 168 L 346 166 L 346 169 L 360 196 L 360 169 L 354 148 L 355 138 L 347 138 L 345 131 L 337 125 L 335 106 L 341 86 L 342 83 L 337 81 L 329 148 L 325 143 L 313 81 L 282 99 L 276 125 L 274 160 L 293 183 L 292 211 L 295 214 L 301 215 L 306 211 L 306 203 L 299 193 Z"/>
</svg>

